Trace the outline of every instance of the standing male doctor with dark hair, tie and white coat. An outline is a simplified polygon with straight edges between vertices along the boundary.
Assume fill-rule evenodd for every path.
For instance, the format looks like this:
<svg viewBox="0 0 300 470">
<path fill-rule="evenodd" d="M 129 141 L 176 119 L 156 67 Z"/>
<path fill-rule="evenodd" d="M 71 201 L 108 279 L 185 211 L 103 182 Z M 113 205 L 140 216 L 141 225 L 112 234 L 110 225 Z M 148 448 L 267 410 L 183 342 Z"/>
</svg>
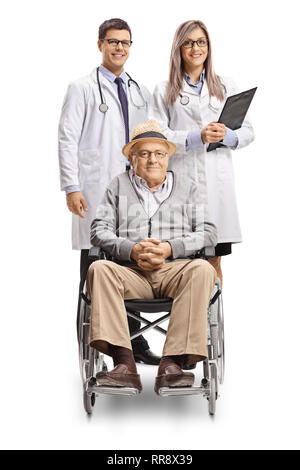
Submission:
<svg viewBox="0 0 300 470">
<path fill-rule="evenodd" d="M 90 226 L 106 187 L 129 167 L 122 147 L 141 122 L 148 119 L 149 91 L 124 71 L 129 57 L 131 30 L 113 18 L 99 27 L 102 65 L 69 85 L 59 123 L 61 189 L 72 212 L 72 247 L 81 250 L 80 291 L 91 261 Z M 129 320 L 130 331 L 139 322 Z M 158 364 L 142 336 L 132 341 L 135 360 Z"/>
</svg>

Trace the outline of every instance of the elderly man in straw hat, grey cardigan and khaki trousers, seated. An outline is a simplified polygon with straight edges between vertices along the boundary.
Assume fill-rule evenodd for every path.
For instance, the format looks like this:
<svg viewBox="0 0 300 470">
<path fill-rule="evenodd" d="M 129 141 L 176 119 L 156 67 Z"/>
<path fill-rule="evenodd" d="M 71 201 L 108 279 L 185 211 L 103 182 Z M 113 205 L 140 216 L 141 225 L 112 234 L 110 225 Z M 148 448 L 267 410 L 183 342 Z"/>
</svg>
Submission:
<svg viewBox="0 0 300 470">
<path fill-rule="evenodd" d="M 91 226 L 92 245 L 108 259 L 93 262 L 87 273 L 89 341 L 114 363 L 113 370 L 97 373 L 98 387 L 142 390 L 128 299 L 173 299 L 156 393 L 192 387 L 194 374 L 182 369 L 208 356 L 207 311 L 216 271 L 196 256 L 216 245 L 217 233 L 208 220 L 205 189 L 201 193 L 191 179 L 167 171 L 175 152 L 155 121 L 137 126 L 123 147 L 132 168 L 108 186 Z"/>
</svg>

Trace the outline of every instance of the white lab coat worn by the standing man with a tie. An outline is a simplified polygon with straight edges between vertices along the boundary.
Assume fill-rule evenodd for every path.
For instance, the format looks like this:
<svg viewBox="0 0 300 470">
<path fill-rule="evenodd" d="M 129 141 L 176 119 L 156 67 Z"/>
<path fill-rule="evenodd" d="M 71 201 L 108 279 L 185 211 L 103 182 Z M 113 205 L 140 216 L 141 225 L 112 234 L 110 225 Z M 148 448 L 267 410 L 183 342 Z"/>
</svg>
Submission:
<svg viewBox="0 0 300 470">
<path fill-rule="evenodd" d="M 99 73 L 104 101 L 108 111 L 101 113 L 101 98 L 97 84 L 96 68 L 93 72 L 68 87 L 59 123 L 59 163 L 61 189 L 79 185 L 86 199 L 88 212 L 85 218 L 72 215 L 72 247 L 88 249 L 90 225 L 96 208 L 111 180 L 125 171 L 125 126 L 118 94 L 111 83 Z M 135 84 L 127 86 L 129 135 L 133 129 L 148 119 L 150 93 L 140 85 L 143 103 Z M 138 106 L 136 106 L 138 105 Z"/>
</svg>

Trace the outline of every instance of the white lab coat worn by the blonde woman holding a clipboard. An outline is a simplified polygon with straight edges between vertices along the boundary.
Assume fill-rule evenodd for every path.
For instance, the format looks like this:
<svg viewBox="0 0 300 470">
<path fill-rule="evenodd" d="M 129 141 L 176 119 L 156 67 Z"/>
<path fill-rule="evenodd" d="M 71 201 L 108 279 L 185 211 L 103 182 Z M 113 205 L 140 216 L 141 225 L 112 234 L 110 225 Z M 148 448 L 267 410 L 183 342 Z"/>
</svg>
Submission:
<svg viewBox="0 0 300 470">
<path fill-rule="evenodd" d="M 234 82 L 220 77 L 225 99 L 238 93 Z M 150 106 L 150 119 L 156 119 L 168 140 L 177 145 L 177 152 L 169 160 L 169 169 L 177 174 L 187 174 L 199 184 L 199 190 L 208 198 L 210 217 L 218 229 L 218 243 L 240 242 L 239 224 L 231 149 L 218 148 L 206 152 L 208 144 L 195 150 L 185 149 L 189 131 L 202 129 L 212 121 L 218 121 L 224 102 L 209 97 L 206 80 L 199 96 L 184 80 L 183 96 L 189 103 L 182 105 L 180 97 L 173 106 L 166 105 L 164 96 L 167 82 L 158 84 L 154 90 Z M 235 131 L 238 136 L 237 148 L 242 148 L 254 139 L 249 119 Z"/>
</svg>

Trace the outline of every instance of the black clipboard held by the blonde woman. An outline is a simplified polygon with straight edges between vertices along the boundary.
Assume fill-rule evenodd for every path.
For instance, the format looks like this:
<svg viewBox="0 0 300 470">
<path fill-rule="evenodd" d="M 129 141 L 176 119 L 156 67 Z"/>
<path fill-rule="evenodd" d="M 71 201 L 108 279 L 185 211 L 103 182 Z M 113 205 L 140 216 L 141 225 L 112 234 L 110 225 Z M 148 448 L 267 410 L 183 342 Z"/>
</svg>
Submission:
<svg viewBox="0 0 300 470">
<path fill-rule="evenodd" d="M 257 87 L 242 91 L 237 95 L 229 96 L 225 101 L 218 122 L 225 124 L 226 127 L 229 127 L 233 131 L 242 127 L 256 90 Z M 210 143 L 206 151 L 211 152 L 218 147 L 224 147 L 222 142 Z"/>
</svg>

